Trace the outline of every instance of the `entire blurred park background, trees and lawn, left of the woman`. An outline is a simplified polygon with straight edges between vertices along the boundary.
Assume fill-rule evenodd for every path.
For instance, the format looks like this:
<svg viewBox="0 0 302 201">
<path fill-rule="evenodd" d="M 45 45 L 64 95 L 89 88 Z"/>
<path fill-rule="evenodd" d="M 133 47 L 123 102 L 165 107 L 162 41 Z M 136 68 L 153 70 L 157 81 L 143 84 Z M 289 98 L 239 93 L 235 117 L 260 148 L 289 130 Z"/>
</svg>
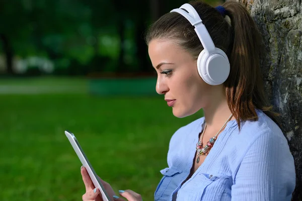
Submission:
<svg viewBox="0 0 302 201">
<path fill-rule="evenodd" d="M 143 36 L 184 3 L 0 1 L 0 200 L 82 199 L 66 129 L 116 192 L 154 199 L 171 136 L 202 111 L 173 116 Z"/>
</svg>

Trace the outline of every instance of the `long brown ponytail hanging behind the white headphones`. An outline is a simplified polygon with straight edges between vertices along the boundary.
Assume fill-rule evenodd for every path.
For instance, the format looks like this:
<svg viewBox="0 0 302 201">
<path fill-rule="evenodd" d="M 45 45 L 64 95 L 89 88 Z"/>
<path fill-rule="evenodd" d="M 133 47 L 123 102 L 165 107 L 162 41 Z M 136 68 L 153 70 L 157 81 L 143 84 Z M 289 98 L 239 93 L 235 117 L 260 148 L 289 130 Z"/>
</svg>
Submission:
<svg viewBox="0 0 302 201">
<path fill-rule="evenodd" d="M 232 42 L 229 47 L 231 73 L 224 82 L 228 105 L 239 128 L 240 120 L 258 120 L 255 109 L 262 110 L 273 121 L 277 114 L 272 112 L 264 91 L 260 68 L 263 41 L 256 23 L 247 9 L 238 2 L 223 4 L 231 19 Z"/>
</svg>

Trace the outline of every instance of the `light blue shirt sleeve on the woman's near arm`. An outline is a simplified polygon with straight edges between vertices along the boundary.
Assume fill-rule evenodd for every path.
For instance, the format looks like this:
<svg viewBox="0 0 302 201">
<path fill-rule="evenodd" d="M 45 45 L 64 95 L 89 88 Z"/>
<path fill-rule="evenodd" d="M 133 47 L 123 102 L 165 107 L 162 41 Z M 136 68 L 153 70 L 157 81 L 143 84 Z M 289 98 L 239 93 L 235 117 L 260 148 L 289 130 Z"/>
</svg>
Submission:
<svg viewBox="0 0 302 201">
<path fill-rule="evenodd" d="M 294 160 L 282 137 L 267 132 L 250 145 L 234 179 L 232 201 L 290 201 L 295 187 Z"/>
</svg>

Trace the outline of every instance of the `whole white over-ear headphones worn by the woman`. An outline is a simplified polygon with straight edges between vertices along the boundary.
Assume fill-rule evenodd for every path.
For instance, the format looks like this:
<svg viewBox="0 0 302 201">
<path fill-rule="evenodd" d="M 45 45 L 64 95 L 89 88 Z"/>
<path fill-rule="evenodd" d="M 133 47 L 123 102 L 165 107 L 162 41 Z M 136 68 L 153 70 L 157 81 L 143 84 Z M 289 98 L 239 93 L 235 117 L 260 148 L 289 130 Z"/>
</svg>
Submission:
<svg viewBox="0 0 302 201">
<path fill-rule="evenodd" d="M 228 56 L 215 47 L 198 13 L 190 4 L 184 4 L 170 13 L 172 12 L 181 14 L 195 27 L 194 30 L 204 48 L 197 59 L 197 69 L 201 78 L 210 85 L 222 84 L 230 74 Z"/>
</svg>

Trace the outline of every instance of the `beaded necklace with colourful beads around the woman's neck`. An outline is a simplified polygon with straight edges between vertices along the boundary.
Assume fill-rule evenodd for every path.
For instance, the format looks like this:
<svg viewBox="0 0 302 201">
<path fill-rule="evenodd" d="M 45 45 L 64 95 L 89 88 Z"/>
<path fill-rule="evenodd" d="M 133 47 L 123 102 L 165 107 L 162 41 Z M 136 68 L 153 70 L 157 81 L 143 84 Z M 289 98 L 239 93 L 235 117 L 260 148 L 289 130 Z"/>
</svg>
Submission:
<svg viewBox="0 0 302 201">
<path fill-rule="evenodd" d="M 226 122 L 224 123 L 224 125 L 218 131 L 218 133 L 214 137 L 210 138 L 210 140 L 206 143 L 205 147 L 203 147 L 202 138 L 203 138 L 203 134 L 204 134 L 205 129 L 206 129 L 206 123 L 205 123 L 204 129 L 203 129 L 202 134 L 200 136 L 201 140 L 196 144 L 196 150 L 197 150 L 196 163 L 199 163 L 199 157 L 200 157 L 200 155 L 205 156 L 209 152 L 210 148 L 213 147 L 213 145 L 214 145 L 214 143 L 215 143 L 215 141 L 217 139 L 218 134 L 224 128 L 224 126 L 226 125 L 226 123 L 228 123 L 230 121 L 230 119 L 232 117 L 233 117 L 233 114 L 229 117 L 228 120 L 226 120 Z"/>
</svg>

